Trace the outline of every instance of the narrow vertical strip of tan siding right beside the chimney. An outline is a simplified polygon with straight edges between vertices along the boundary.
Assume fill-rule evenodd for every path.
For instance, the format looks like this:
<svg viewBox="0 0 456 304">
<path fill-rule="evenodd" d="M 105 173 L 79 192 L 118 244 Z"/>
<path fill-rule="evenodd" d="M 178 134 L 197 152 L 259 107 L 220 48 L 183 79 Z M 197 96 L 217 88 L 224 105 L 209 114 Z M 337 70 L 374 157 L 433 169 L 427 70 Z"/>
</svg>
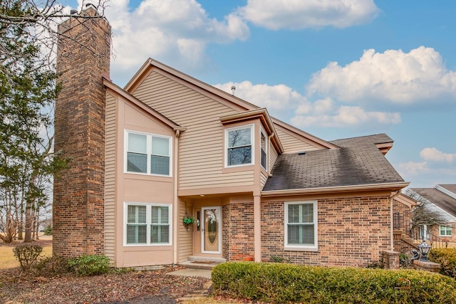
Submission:
<svg viewBox="0 0 456 304">
<path fill-rule="evenodd" d="M 115 258 L 115 122 L 117 99 L 107 94 L 105 140 L 105 255 Z"/>
</svg>

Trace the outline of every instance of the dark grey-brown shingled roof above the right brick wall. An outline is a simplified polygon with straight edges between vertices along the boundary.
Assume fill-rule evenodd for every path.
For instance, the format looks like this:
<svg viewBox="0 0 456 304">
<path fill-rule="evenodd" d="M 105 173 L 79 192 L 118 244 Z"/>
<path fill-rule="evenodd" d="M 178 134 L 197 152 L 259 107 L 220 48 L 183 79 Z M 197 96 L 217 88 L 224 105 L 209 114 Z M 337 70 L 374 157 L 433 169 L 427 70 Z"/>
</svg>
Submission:
<svg viewBox="0 0 456 304">
<path fill-rule="evenodd" d="M 376 144 L 388 135 L 334 140 L 338 149 L 281 154 L 263 191 L 358 186 L 404 182 Z"/>
</svg>

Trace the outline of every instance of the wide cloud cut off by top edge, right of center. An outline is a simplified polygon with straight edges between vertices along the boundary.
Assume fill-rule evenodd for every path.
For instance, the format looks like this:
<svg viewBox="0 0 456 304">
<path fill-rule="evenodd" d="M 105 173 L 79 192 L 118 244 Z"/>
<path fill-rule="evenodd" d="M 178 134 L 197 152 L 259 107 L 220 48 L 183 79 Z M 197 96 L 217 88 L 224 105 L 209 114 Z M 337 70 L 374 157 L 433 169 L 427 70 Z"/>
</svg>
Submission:
<svg viewBox="0 0 456 304">
<path fill-rule="evenodd" d="M 346 28 L 375 18 L 373 0 L 249 0 L 239 14 L 257 26 L 301 29 L 322 26 Z"/>
</svg>

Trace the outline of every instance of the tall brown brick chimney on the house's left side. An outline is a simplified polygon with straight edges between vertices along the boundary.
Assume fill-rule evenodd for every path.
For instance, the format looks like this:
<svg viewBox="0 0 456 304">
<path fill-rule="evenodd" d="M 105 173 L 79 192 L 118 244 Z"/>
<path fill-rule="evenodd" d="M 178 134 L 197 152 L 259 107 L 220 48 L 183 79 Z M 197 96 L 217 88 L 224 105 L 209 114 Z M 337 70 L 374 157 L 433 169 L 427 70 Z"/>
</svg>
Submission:
<svg viewBox="0 0 456 304">
<path fill-rule="evenodd" d="M 92 16 L 95 18 L 81 18 Z M 93 6 L 58 26 L 55 150 L 68 169 L 54 177 L 53 255 L 104 253 L 105 88 L 110 25 Z"/>
</svg>

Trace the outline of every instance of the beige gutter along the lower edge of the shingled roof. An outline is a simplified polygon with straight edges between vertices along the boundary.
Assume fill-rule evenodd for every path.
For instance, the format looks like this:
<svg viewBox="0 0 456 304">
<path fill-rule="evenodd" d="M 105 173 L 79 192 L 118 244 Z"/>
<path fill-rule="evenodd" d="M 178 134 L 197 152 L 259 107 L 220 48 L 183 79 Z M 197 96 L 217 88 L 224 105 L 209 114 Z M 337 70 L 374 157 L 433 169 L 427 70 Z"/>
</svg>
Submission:
<svg viewBox="0 0 456 304">
<path fill-rule="evenodd" d="M 407 187 L 410 182 L 394 182 L 383 184 L 363 184 L 356 186 L 337 186 L 337 187 L 318 187 L 307 189 L 285 189 L 285 190 L 272 190 L 261 192 L 261 197 L 274 197 L 274 196 L 296 196 L 302 194 L 322 194 L 328 192 L 353 192 L 353 191 L 368 191 L 378 189 L 403 189 Z"/>
</svg>

